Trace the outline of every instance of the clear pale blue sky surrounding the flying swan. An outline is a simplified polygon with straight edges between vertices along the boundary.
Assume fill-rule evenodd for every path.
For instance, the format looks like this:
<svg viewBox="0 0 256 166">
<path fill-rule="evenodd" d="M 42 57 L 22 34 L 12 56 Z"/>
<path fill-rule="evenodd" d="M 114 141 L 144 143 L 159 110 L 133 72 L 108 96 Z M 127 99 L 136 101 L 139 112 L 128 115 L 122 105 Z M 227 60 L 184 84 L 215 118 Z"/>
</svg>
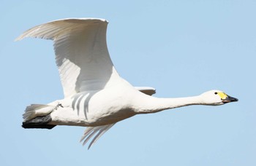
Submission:
<svg viewBox="0 0 256 166">
<path fill-rule="evenodd" d="M 85 127 L 25 130 L 31 103 L 63 98 L 53 43 L 14 39 L 67 17 L 109 21 L 118 73 L 156 97 L 223 90 L 225 106 L 189 106 L 118 122 L 88 151 Z M 0 7 L 0 165 L 256 165 L 256 1 L 13 1 Z"/>
</svg>

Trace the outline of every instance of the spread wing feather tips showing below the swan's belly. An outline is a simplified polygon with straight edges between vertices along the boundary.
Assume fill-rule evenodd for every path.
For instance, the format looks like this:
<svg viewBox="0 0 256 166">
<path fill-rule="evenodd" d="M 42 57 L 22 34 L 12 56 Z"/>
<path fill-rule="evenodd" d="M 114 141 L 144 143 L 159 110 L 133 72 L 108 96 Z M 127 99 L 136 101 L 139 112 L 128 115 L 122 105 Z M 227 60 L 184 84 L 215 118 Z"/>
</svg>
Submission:
<svg viewBox="0 0 256 166">
<path fill-rule="evenodd" d="M 111 127 L 113 127 L 115 124 L 111 125 L 104 125 L 104 126 L 97 126 L 97 127 L 87 127 L 86 130 L 83 133 L 82 138 L 80 139 L 80 142 L 83 141 L 83 146 L 89 141 L 90 138 L 94 136 L 91 143 L 89 144 L 88 149 L 91 148 L 91 146 L 97 142 L 97 140 L 106 133 Z M 96 134 L 96 135 L 95 135 Z"/>
</svg>

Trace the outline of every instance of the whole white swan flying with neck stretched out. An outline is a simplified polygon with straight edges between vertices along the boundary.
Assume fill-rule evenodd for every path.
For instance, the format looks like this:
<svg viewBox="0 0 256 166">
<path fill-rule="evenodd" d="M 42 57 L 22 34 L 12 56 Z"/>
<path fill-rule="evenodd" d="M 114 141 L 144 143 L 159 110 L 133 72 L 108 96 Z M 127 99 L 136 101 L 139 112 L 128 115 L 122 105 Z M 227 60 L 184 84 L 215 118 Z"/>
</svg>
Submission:
<svg viewBox="0 0 256 166">
<path fill-rule="evenodd" d="M 219 106 L 238 101 L 220 90 L 187 98 L 155 98 L 152 87 L 133 87 L 119 76 L 108 54 L 108 21 L 97 18 L 55 20 L 25 31 L 16 40 L 53 40 L 64 99 L 31 104 L 23 114 L 24 128 L 56 125 L 87 127 L 80 141 L 89 148 L 116 122 L 136 114 L 156 113 L 190 105 Z"/>
</svg>

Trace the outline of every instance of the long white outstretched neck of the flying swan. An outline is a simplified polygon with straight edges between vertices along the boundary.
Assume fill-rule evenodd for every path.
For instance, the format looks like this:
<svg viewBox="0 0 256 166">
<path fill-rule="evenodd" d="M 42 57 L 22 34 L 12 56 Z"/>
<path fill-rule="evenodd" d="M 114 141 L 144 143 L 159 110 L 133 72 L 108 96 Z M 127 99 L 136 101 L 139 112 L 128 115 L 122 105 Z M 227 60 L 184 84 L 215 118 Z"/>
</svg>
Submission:
<svg viewBox="0 0 256 166">
<path fill-rule="evenodd" d="M 203 103 L 200 95 L 187 98 L 154 98 L 145 96 L 138 100 L 138 105 L 140 106 L 137 112 L 138 114 L 149 114 L 181 106 L 205 105 L 205 103 Z"/>
</svg>

